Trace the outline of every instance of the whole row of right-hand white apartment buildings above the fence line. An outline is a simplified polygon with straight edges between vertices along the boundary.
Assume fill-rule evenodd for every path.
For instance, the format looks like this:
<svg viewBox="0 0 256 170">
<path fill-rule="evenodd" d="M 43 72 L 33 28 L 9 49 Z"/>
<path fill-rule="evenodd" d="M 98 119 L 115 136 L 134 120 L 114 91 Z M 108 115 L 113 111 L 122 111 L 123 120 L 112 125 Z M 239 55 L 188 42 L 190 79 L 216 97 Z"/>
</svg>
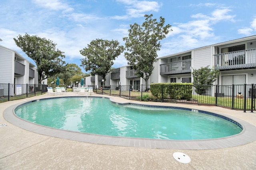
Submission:
<svg viewBox="0 0 256 170">
<path fill-rule="evenodd" d="M 218 80 L 214 84 L 256 83 L 256 35 L 208 45 L 197 49 L 159 57 L 148 84 L 160 82 L 193 82 L 192 71 L 205 66 L 219 69 Z M 102 78 L 85 78 L 86 85 L 102 85 Z M 134 74 L 132 66 L 122 66 L 107 75 L 105 85 L 117 89 L 118 85 L 130 85 L 139 90 L 144 80 Z"/>
</svg>

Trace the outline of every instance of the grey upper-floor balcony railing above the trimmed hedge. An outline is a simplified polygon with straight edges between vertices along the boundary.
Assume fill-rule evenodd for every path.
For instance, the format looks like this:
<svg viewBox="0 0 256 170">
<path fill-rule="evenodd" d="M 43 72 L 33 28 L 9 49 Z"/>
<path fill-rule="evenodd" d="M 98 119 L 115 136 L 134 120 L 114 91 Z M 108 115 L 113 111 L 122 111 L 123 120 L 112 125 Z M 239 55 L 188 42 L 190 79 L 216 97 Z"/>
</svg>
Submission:
<svg viewBox="0 0 256 170">
<path fill-rule="evenodd" d="M 191 72 L 191 59 L 160 64 L 160 75 L 184 74 Z"/>
</svg>

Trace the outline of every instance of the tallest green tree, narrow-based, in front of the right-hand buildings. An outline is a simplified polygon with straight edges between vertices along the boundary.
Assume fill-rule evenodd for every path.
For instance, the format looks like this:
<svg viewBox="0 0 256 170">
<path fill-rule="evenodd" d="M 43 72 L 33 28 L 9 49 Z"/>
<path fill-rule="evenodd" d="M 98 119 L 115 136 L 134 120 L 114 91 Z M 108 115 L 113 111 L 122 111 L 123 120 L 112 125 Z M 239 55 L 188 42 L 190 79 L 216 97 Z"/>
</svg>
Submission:
<svg viewBox="0 0 256 170">
<path fill-rule="evenodd" d="M 171 25 L 164 26 L 164 18 L 160 17 L 158 22 L 156 19 L 152 19 L 152 16 L 152 14 L 145 15 L 146 21 L 142 25 L 137 23 L 130 25 L 129 36 L 123 38 L 128 51 L 124 53 L 124 57 L 128 64 L 133 66 L 135 74 L 145 80 L 146 89 L 148 79 L 154 70 L 156 52 L 161 47 L 160 40 L 164 39 L 169 31 L 172 31 Z"/>
</svg>

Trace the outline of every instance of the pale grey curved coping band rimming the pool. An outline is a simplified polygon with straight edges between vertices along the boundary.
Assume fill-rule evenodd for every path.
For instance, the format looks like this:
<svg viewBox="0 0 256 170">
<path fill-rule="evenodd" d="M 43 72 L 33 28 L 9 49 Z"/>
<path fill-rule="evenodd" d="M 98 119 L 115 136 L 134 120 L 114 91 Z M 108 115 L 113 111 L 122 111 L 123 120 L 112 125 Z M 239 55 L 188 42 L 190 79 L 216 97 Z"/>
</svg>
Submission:
<svg viewBox="0 0 256 170">
<path fill-rule="evenodd" d="M 82 97 L 82 96 L 65 96 L 65 97 Z M 106 96 L 106 97 L 93 96 L 93 97 L 109 98 L 110 101 L 114 103 L 119 103 L 119 104 L 138 104 L 138 102 L 130 101 L 130 100 L 128 102 L 121 102 L 120 100 L 117 101 L 116 98 L 113 98 L 111 96 Z M 52 97 L 52 98 L 56 98 L 56 97 Z M 44 98 L 41 98 L 39 100 L 42 100 L 42 99 Z M 200 109 L 200 110 L 222 115 L 236 121 L 237 123 L 242 125 L 243 127 L 242 132 L 237 135 L 217 138 L 217 139 L 165 140 L 165 139 L 146 139 L 146 138 L 132 138 L 132 137 L 115 137 L 115 136 L 97 135 L 97 134 L 81 133 L 81 132 L 75 132 L 75 131 L 56 129 L 52 127 L 38 125 L 16 116 L 16 114 L 14 113 L 15 107 L 31 101 L 34 101 L 34 100 L 20 102 L 18 104 L 15 104 L 6 108 L 3 113 L 3 116 L 6 119 L 6 121 L 22 129 L 26 129 L 34 133 L 39 133 L 39 134 L 47 135 L 51 137 L 58 137 L 62 139 L 69 139 L 73 141 L 102 144 L 102 145 L 124 146 L 124 147 L 142 147 L 142 148 L 151 148 L 151 149 L 184 149 L 184 150 L 222 149 L 222 148 L 245 145 L 247 143 L 256 141 L 256 135 L 255 135 L 256 127 L 254 125 L 251 125 L 250 123 L 244 120 L 238 119 L 236 117 L 226 115 L 224 113 L 207 111 L 204 109 Z M 146 106 L 147 104 L 143 104 L 143 105 Z M 150 103 L 150 106 L 152 105 L 158 106 L 157 104 L 154 105 Z M 164 105 L 161 105 L 161 106 L 164 106 Z"/>
</svg>

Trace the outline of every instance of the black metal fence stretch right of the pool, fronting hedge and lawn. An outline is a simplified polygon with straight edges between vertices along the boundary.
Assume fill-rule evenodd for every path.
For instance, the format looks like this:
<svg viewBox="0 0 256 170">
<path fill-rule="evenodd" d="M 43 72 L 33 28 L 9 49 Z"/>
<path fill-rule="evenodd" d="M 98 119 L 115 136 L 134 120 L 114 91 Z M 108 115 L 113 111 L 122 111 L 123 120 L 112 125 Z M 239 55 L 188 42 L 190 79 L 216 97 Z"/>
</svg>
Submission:
<svg viewBox="0 0 256 170">
<path fill-rule="evenodd" d="M 150 90 L 150 85 L 100 86 L 94 91 L 98 94 L 119 96 L 128 100 L 175 102 L 198 105 L 230 107 L 231 109 L 255 110 L 254 84 L 242 85 L 159 85 L 158 92 Z M 175 91 L 173 89 L 176 89 Z M 189 93 L 189 94 L 188 94 Z M 189 96 L 189 97 L 188 97 Z"/>
</svg>

